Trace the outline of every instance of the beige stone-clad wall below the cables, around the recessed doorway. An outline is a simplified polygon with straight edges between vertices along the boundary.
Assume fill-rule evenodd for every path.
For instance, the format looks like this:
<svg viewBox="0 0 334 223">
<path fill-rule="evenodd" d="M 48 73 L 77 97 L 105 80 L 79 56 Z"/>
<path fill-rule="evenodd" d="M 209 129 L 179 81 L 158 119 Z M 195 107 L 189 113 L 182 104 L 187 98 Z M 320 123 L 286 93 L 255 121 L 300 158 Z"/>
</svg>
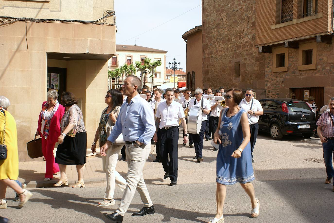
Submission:
<svg viewBox="0 0 334 223">
<path fill-rule="evenodd" d="M 67 90 L 83 99 L 88 144 L 91 143 L 105 106 L 107 60 L 47 60 L 47 53 L 111 57 L 115 54 L 115 32 L 115 26 L 60 23 L 16 22 L 1 28 L 0 94 L 11 102 L 8 110 L 16 120 L 21 161 L 31 160 L 26 143 L 34 138 L 41 104 L 46 100 L 47 66 L 67 69 Z"/>
</svg>

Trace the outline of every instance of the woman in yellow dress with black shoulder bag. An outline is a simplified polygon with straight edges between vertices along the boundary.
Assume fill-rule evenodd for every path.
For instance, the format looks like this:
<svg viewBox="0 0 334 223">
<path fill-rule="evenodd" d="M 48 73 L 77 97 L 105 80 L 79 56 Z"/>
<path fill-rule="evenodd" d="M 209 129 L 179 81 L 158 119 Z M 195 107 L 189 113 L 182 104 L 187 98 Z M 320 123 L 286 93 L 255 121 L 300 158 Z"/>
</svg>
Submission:
<svg viewBox="0 0 334 223">
<path fill-rule="evenodd" d="M 6 110 L 9 104 L 7 98 L 0 96 L 0 144 L 7 146 L 7 158 L 0 160 L 0 209 L 7 208 L 7 186 L 11 187 L 20 196 L 20 207 L 32 196 L 30 191 L 22 189 L 15 182 L 19 175 L 19 158 L 15 120 Z"/>
</svg>

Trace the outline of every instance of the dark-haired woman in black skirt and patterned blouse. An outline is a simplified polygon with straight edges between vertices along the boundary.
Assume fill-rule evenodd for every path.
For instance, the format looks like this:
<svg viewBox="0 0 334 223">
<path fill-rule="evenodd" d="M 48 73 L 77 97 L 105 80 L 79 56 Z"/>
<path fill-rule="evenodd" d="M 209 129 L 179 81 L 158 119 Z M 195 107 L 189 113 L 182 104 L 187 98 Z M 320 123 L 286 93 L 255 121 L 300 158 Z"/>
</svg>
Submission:
<svg viewBox="0 0 334 223">
<path fill-rule="evenodd" d="M 76 165 L 78 182 L 73 188 L 85 187 L 83 172 L 86 163 L 87 132 L 83 123 L 82 113 L 76 105 L 78 102 L 71 92 L 64 92 L 61 101 L 65 107 L 65 114 L 61 119 L 61 134 L 58 138 L 58 148 L 55 162 L 59 164 L 60 180 L 55 187 L 68 185 L 66 165 Z"/>
</svg>

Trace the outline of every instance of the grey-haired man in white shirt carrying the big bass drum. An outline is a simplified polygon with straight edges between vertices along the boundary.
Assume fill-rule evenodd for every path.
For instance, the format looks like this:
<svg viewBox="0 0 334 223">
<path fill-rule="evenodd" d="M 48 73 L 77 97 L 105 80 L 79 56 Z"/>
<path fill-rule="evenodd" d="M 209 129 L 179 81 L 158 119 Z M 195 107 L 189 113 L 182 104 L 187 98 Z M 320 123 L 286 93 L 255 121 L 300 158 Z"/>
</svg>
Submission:
<svg viewBox="0 0 334 223">
<path fill-rule="evenodd" d="M 203 161 L 203 155 L 202 155 L 202 150 L 203 150 L 203 137 L 204 137 L 204 132 L 206 128 L 206 120 L 207 117 L 206 115 L 210 113 L 210 105 L 208 100 L 202 98 L 203 91 L 200 88 L 196 88 L 195 90 L 195 98 L 191 99 L 188 105 L 188 108 L 190 109 L 191 107 L 201 107 L 202 108 L 202 125 L 201 125 L 201 130 L 199 132 L 199 135 L 197 134 L 191 134 L 192 140 L 194 141 L 194 146 L 195 146 L 195 153 L 196 156 L 193 159 L 197 159 L 197 162 Z"/>
</svg>

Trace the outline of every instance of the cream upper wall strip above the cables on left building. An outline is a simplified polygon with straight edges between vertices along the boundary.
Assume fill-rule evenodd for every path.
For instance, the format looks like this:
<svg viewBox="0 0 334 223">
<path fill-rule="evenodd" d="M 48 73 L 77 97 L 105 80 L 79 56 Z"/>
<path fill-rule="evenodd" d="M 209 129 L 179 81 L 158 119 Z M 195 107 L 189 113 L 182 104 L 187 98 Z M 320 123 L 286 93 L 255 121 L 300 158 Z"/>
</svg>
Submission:
<svg viewBox="0 0 334 223">
<path fill-rule="evenodd" d="M 114 0 L 1 0 L 0 15 L 36 19 L 75 19 L 95 21 L 106 10 L 114 10 Z M 113 18 L 108 20 L 113 23 Z"/>
</svg>

